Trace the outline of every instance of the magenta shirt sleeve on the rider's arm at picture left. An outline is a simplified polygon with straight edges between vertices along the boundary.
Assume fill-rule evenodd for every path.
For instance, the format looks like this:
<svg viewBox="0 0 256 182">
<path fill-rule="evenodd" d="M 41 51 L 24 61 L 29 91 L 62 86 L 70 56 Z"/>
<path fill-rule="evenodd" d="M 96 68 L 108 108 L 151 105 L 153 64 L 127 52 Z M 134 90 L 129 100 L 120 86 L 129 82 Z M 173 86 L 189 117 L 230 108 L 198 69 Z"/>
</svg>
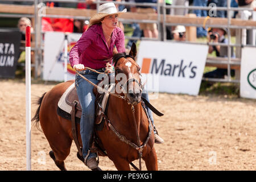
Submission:
<svg viewBox="0 0 256 182">
<path fill-rule="evenodd" d="M 71 67 L 79 64 L 79 57 L 81 56 L 82 52 L 84 52 L 84 50 L 90 46 L 90 44 L 92 44 L 92 40 L 93 34 L 90 29 L 82 34 L 81 38 L 69 52 L 69 63 L 71 64 Z"/>
</svg>

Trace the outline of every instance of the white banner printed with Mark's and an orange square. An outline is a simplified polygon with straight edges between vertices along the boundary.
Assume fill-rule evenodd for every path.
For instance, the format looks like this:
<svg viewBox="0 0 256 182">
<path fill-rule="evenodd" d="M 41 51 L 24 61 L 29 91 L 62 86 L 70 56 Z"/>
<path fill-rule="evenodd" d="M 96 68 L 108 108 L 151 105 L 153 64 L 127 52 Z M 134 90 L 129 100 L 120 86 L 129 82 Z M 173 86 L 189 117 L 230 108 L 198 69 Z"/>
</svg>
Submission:
<svg viewBox="0 0 256 182">
<path fill-rule="evenodd" d="M 142 41 L 137 62 L 148 91 L 197 95 L 207 54 L 207 45 Z"/>
</svg>

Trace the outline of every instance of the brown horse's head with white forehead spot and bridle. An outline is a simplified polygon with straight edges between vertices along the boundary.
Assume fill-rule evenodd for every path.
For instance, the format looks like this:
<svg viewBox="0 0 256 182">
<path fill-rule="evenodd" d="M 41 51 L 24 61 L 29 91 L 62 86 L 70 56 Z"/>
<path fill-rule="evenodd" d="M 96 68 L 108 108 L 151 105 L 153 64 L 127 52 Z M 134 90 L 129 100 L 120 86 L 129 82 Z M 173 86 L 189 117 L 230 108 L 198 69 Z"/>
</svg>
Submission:
<svg viewBox="0 0 256 182">
<path fill-rule="evenodd" d="M 140 67 L 135 61 L 137 54 L 136 44 L 133 43 L 129 55 L 126 53 L 114 53 L 115 84 L 121 87 L 127 100 L 135 105 L 141 102 L 142 84 Z"/>
</svg>

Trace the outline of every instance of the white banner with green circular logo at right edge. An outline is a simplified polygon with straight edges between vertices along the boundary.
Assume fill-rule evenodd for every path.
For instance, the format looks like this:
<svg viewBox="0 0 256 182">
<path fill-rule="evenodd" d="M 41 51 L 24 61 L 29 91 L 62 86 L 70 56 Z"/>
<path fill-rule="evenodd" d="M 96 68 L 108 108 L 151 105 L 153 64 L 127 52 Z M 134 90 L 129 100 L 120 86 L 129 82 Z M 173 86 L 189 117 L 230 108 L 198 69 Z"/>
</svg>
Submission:
<svg viewBox="0 0 256 182">
<path fill-rule="evenodd" d="M 256 48 L 243 47 L 241 57 L 240 96 L 256 99 Z"/>
</svg>

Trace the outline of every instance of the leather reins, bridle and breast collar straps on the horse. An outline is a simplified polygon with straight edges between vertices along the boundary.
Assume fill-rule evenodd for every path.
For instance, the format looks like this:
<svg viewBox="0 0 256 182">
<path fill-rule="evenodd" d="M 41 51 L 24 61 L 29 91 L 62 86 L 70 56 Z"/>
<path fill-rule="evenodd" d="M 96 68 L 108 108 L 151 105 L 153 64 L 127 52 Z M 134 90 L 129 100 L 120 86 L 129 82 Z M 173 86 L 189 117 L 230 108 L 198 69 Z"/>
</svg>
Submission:
<svg viewBox="0 0 256 182">
<path fill-rule="evenodd" d="M 86 68 L 87 69 L 87 68 Z M 96 70 L 94 69 L 91 69 L 89 68 L 90 71 L 93 71 L 93 72 L 96 72 L 96 73 L 100 73 L 100 74 L 105 74 L 105 72 L 97 72 Z M 104 93 L 108 93 L 114 97 L 118 97 L 118 98 L 121 98 L 122 100 L 126 100 L 127 101 L 127 104 L 128 105 L 131 105 L 131 112 L 133 113 L 133 123 L 134 123 L 134 128 L 135 128 L 135 131 L 136 131 L 136 135 L 137 135 L 137 144 L 133 143 L 133 142 L 130 142 L 130 140 L 126 139 L 125 136 L 121 135 L 118 133 L 117 130 L 114 129 L 113 125 L 111 124 L 111 122 L 109 121 L 108 117 L 104 114 L 104 111 L 101 107 L 100 104 L 99 107 L 100 107 L 100 111 L 101 111 L 101 114 L 103 115 L 105 121 L 107 122 L 107 126 L 113 131 L 113 133 L 118 137 L 119 140 L 121 140 L 122 142 L 128 144 L 129 146 L 131 146 L 132 148 L 134 148 L 135 150 L 138 151 L 138 155 L 139 155 L 139 169 L 137 167 L 134 166 L 134 164 L 131 163 L 131 165 L 137 169 L 137 171 L 141 171 L 141 158 L 142 158 L 142 151 L 143 151 L 143 148 L 146 146 L 148 140 L 150 139 L 151 137 L 151 131 L 152 131 L 152 126 L 151 126 L 151 119 L 150 117 L 148 117 L 148 114 L 147 114 L 147 110 L 146 110 L 146 107 L 144 105 L 144 102 L 141 100 L 141 92 L 142 92 L 142 84 L 141 84 L 141 80 L 137 80 L 136 78 L 129 78 L 128 80 L 126 80 L 125 84 L 122 86 L 119 84 L 120 86 L 120 89 L 122 90 L 122 93 L 124 94 L 124 96 L 121 96 L 120 94 L 116 94 L 116 93 L 111 93 L 109 92 L 108 90 L 106 89 L 103 89 L 101 88 L 100 86 L 94 84 L 93 82 L 91 82 L 90 80 L 88 80 L 87 78 L 85 78 L 84 76 L 82 76 L 79 72 L 76 72 L 78 75 L 80 75 L 82 78 L 84 78 L 84 80 L 88 81 L 90 84 L 92 84 L 94 87 L 96 87 L 98 90 L 100 90 L 101 92 L 104 92 Z M 137 122 L 136 122 L 136 118 L 135 118 L 135 110 L 134 110 L 134 105 L 137 105 L 139 104 L 139 102 L 137 104 L 131 104 L 130 101 L 127 99 L 127 93 L 125 92 L 125 89 L 127 84 L 129 84 L 129 82 L 131 81 L 135 81 L 137 82 L 137 84 L 139 85 L 139 90 L 140 90 L 140 94 L 139 94 L 139 102 L 141 102 L 142 106 L 143 106 L 143 110 L 145 111 L 146 115 L 147 115 L 147 118 L 148 118 L 148 128 L 149 128 L 149 131 L 148 131 L 148 137 L 146 139 L 146 141 L 142 144 L 141 146 L 141 142 L 140 142 L 140 139 L 139 139 L 139 132 L 138 132 L 138 127 L 137 127 Z"/>
</svg>

